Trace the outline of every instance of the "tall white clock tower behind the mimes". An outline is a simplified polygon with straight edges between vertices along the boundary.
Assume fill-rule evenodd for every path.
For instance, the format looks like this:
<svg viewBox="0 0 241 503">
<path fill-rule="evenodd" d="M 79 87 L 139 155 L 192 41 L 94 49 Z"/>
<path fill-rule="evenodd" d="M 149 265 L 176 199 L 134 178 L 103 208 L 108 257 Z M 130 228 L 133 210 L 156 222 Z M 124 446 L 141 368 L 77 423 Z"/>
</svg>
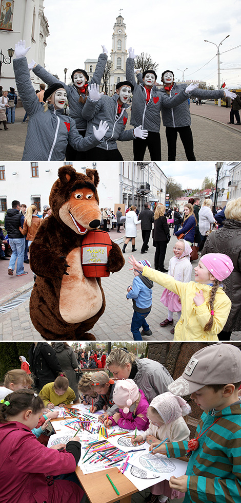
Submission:
<svg viewBox="0 0 241 503">
<path fill-rule="evenodd" d="M 124 18 L 121 14 L 119 14 L 118 17 L 116 17 L 114 32 L 112 35 L 112 49 L 110 54 L 112 69 L 108 82 L 110 95 L 114 93 L 115 85 L 118 82 L 126 80 L 126 60 L 128 56 L 126 39 L 126 25 L 124 23 Z"/>
</svg>

